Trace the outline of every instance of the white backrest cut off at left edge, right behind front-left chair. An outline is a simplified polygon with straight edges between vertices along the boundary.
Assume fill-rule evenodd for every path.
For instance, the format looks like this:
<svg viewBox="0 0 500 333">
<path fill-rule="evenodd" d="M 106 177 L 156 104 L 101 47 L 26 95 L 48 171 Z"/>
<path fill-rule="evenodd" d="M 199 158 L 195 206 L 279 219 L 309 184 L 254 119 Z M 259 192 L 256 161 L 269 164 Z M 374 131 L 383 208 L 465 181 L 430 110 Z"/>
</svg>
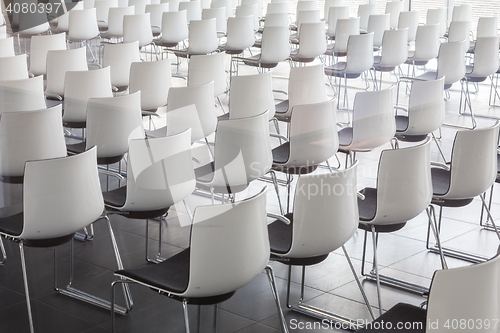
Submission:
<svg viewBox="0 0 500 333">
<path fill-rule="evenodd" d="M 2 114 L 0 120 L 1 177 L 22 177 L 27 161 L 66 156 L 61 114 L 61 105 L 50 109 Z M 30 134 L 26 135 L 26 133 Z"/>
</svg>

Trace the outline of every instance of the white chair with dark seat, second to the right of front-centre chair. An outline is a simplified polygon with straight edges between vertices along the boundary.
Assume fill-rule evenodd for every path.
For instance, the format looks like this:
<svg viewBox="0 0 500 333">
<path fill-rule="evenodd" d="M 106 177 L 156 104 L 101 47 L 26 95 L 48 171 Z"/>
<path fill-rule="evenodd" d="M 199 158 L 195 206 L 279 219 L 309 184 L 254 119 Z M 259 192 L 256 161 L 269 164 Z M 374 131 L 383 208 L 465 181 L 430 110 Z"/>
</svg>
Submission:
<svg viewBox="0 0 500 333">
<path fill-rule="evenodd" d="M 378 165 L 377 187 L 361 190 L 358 199 L 359 228 L 365 231 L 363 266 L 367 233 L 372 233 L 373 269 L 368 274 L 377 282 L 379 313 L 382 315 L 380 283 L 386 281 L 379 274 L 377 255 L 378 234 L 394 232 L 425 211 L 432 198 L 430 139 L 419 146 L 382 151 Z M 409 177 L 411 175 L 411 177 Z"/>
</svg>

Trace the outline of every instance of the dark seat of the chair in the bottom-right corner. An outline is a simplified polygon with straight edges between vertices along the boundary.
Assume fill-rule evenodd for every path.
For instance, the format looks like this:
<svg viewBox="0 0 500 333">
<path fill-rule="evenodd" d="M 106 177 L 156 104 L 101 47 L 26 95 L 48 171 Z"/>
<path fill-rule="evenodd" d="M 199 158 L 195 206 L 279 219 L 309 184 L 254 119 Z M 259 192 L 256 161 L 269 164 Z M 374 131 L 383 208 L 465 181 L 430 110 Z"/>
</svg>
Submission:
<svg viewBox="0 0 500 333">
<path fill-rule="evenodd" d="M 426 327 L 426 315 L 427 310 L 422 309 L 418 306 L 398 303 L 393 306 L 389 311 L 385 312 L 383 315 L 375 319 L 371 325 L 366 328 L 362 328 L 358 333 L 376 333 L 385 330 L 381 330 L 381 327 L 387 328 L 391 325 L 392 329 L 390 332 L 394 333 L 425 333 Z M 382 325 L 383 322 L 383 325 Z M 390 324 L 389 324 L 390 323 Z M 411 323 L 408 325 L 409 329 L 397 329 L 399 323 Z M 416 325 L 420 323 L 421 325 Z M 401 324 L 399 324 L 401 326 Z M 403 325 L 404 326 L 404 325 Z M 420 327 L 419 327 L 420 326 Z M 389 330 L 387 330 L 389 331 Z"/>
</svg>

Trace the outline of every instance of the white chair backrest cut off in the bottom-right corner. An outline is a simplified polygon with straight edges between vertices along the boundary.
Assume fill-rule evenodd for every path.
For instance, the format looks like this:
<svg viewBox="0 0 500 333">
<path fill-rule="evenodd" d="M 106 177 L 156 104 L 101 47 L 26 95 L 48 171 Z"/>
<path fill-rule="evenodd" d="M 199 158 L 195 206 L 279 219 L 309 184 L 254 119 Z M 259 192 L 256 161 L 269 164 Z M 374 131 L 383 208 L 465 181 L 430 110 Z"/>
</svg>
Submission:
<svg viewBox="0 0 500 333">
<path fill-rule="evenodd" d="M 445 323 L 448 318 L 497 316 L 499 261 L 497 255 L 484 263 L 436 271 L 430 287 L 426 323 Z M 481 331 L 496 332 L 498 327 L 494 322 L 496 319 L 485 321 L 488 325 L 482 325 Z"/>
</svg>

